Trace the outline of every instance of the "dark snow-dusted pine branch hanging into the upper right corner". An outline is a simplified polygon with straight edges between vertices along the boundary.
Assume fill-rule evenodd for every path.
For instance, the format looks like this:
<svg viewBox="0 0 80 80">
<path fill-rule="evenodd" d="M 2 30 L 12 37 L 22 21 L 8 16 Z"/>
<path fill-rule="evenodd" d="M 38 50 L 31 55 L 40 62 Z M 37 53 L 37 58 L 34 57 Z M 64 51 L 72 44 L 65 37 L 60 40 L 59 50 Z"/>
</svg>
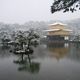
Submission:
<svg viewBox="0 0 80 80">
<path fill-rule="evenodd" d="M 51 13 L 63 10 L 63 12 L 74 12 L 80 10 L 80 0 L 54 0 L 51 6 Z"/>
</svg>

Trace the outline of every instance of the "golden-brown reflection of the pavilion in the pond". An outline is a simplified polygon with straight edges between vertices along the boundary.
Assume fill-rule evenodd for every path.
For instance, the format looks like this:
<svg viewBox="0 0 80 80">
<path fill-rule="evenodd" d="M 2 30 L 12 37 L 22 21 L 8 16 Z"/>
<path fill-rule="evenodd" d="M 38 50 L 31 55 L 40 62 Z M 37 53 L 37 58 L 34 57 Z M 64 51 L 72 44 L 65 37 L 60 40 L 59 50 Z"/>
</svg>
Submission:
<svg viewBox="0 0 80 80">
<path fill-rule="evenodd" d="M 47 48 L 51 52 L 50 56 L 56 59 L 64 58 L 69 52 L 68 43 L 48 43 Z"/>
</svg>

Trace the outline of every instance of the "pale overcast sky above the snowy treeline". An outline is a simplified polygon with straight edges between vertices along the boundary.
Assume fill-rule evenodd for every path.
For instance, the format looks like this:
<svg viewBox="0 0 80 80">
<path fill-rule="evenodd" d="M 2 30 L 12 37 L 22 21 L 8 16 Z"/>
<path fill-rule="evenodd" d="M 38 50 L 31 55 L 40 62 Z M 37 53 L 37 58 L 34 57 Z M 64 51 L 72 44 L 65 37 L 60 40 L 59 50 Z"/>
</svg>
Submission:
<svg viewBox="0 0 80 80">
<path fill-rule="evenodd" d="M 80 18 L 75 13 L 51 14 L 53 0 L 0 0 L 0 22 L 25 23 L 27 21 L 70 20 Z"/>
</svg>

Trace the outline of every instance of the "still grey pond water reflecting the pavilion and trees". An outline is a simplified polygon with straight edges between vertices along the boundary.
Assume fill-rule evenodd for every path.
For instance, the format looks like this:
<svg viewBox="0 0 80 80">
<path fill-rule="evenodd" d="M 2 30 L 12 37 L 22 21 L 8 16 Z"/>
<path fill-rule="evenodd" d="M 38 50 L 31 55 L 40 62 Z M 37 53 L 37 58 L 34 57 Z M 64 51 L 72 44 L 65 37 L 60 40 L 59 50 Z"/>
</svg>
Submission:
<svg viewBox="0 0 80 80">
<path fill-rule="evenodd" d="M 80 45 L 41 44 L 24 59 L 0 47 L 0 80 L 80 80 Z"/>
</svg>

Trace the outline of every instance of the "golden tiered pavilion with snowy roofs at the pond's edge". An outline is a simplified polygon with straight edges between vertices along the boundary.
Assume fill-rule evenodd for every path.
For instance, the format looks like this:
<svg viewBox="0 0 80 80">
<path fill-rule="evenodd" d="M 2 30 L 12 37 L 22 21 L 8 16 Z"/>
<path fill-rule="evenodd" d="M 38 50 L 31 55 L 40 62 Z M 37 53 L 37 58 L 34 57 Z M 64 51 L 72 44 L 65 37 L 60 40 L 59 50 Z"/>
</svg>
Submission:
<svg viewBox="0 0 80 80">
<path fill-rule="evenodd" d="M 47 32 L 47 38 L 54 41 L 67 41 L 70 38 L 72 30 L 67 29 L 67 24 L 54 23 L 49 25 Z"/>
</svg>

